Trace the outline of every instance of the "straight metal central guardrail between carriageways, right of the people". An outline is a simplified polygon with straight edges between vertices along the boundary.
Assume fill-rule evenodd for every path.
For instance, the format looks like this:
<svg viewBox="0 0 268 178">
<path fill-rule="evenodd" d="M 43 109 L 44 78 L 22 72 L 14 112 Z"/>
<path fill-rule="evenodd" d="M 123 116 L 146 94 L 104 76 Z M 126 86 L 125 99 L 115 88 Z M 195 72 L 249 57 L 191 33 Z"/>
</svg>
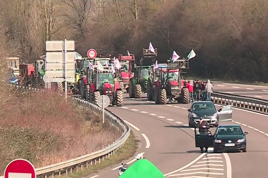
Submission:
<svg viewBox="0 0 268 178">
<path fill-rule="evenodd" d="M 213 92 L 211 100 L 214 103 L 221 105 L 230 104 L 233 107 L 268 115 L 268 100 L 260 100 L 257 98 L 231 95 L 220 92 Z"/>
</svg>

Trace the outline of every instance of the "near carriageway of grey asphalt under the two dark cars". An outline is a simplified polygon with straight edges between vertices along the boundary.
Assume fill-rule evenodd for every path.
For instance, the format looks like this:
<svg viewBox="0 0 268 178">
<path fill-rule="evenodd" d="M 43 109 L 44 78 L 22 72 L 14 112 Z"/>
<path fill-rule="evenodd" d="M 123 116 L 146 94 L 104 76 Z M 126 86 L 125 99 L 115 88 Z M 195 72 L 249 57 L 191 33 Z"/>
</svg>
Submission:
<svg viewBox="0 0 268 178">
<path fill-rule="evenodd" d="M 108 109 L 129 123 L 141 139 L 138 153 L 144 152 L 165 177 L 231 178 L 230 174 L 232 177 L 267 177 L 267 116 L 233 109 L 233 121 L 229 123 L 240 124 L 249 132 L 247 152 L 213 154 L 213 150 L 209 150 L 201 154 L 199 148 L 195 148 L 194 130 L 188 127 L 190 105 L 155 105 L 147 101 L 146 94 L 140 99 L 124 96 L 123 107 Z M 91 176 L 118 177 L 118 168 L 113 168 Z"/>
</svg>

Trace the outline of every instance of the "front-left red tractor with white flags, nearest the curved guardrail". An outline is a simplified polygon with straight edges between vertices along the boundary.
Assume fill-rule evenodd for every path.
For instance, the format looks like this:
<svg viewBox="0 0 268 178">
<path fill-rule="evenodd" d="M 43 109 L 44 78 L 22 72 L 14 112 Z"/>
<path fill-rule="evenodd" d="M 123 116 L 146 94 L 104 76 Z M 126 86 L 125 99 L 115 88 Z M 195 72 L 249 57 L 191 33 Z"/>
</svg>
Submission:
<svg viewBox="0 0 268 178">
<path fill-rule="evenodd" d="M 114 82 L 111 65 L 103 69 L 86 69 L 86 75 L 81 76 L 80 94 L 90 102 L 97 103 L 97 98 L 101 94 L 110 97 L 112 105 L 123 105 L 123 92 L 120 89 L 119 83 Z"/>
</svg>

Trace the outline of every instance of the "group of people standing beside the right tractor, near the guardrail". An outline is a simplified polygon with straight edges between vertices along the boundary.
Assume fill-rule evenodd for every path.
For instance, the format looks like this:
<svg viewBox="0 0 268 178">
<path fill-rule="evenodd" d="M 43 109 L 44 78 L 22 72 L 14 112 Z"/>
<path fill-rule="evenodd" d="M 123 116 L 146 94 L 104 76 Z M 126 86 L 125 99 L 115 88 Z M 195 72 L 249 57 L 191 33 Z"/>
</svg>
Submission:
<svg viewBox="0 0 268 178">
<path fill-rule="evenodd" d="M 184 86 L 188 88 L 191 102 L 194 101 L 211 101 L 211 94 L 213 93 L 213 84 L 210 80 L 184 80 Z"/>
</svg>

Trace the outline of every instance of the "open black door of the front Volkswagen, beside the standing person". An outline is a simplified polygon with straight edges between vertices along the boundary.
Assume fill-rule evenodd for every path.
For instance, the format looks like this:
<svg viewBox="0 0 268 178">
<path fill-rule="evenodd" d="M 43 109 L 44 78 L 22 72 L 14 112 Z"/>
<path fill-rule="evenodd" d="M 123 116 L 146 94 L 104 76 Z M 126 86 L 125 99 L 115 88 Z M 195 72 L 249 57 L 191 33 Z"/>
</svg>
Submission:
<svg viewBox="0 0 268 178">
<path fill-rule="evenodd" d="M 209 131 L 210 132 L 210 131 Z M 214 135 L 199 132 L 199 128 L 195 128 L 195 147 L 213 147 Z"/>
</svg>

